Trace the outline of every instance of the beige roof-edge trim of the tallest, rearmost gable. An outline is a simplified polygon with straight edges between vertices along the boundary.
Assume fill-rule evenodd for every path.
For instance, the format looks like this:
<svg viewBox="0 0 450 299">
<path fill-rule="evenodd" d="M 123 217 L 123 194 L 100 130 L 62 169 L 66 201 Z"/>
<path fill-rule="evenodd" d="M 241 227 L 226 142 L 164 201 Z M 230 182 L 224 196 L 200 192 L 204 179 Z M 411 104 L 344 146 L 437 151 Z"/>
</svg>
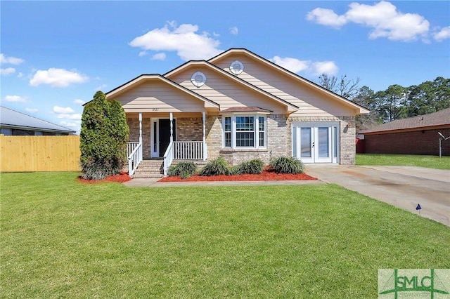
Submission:
<svg viewBox="0 0 450 299">
<path fill-rule="evenodd" d="M 248 51 L 245 48 L 231 48 L 228 51 L 225 51 L 224 53 L 221 53 L 214 58 L 211 58 L 208 60 L 208 62 L 212 64 L 217 64 L 217 62 L 221 60 L 225 60 L 228 57 L 231 57 L 233 55 L 245 55 L 247 58 L 249 58 L 252 61 L 255 61 L 261 65 L 264 65 L 265 68 L 269 68 L 271 70 L 274 70 L 275 72 L 278 72 L 280 74 L 284 74 L 287 77 L 290 77 L 291 79 L 297 81 L 298 83 L 302 84 L 303 86 L 307 86 L 308 88 L 311 88 L 315 91 L 318 91 L 322 93 L 323 95 L 326 95 L 326 97 L 333 99 L 337 102 L 339 102 L 341 105 L 345 105 L 347 107 L 352 107 L 352 109 L 358 110 L 359 113 L 368 113 L 368 109 L 362 107 L 361 105 L 358 105 L 350 100 L 347 100 L 346 98 L 343 98 L 342 96 L 333 93 L 332 91 L 328 91 L 328 89 L 323 88 L 322 86 L 319 86 L 318 84 L 315 84 L 312 81 L 309 81 L 307 79 L 304 79 L 303 77 L 300 77 L 299 75 L 290 72 L 288 69 L 285 69 L 279 65 L 276 65 L 274 62 L 271 62 L 269 60 L 266 60 L 266 58 L 262 58 L 261 56 Z"/>
</svg>

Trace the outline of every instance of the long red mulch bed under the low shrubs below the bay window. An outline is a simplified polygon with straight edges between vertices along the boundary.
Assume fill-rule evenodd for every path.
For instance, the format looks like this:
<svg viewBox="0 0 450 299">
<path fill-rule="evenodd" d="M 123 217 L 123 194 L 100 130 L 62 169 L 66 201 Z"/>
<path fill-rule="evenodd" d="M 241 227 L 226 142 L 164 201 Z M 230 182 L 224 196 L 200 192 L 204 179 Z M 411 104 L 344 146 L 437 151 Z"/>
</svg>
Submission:
<svg viewBox="0 0 450 299">
<path fill-rule="evenodd" d="M 200 176 L 192 175 L 189 178 L 181 179 L 179 176 L 168 176 L 162 178 L 159 182 L 207 182 L 207 181 L 227 181 L 227 180 L 317 180 L 307 174 L 301 173 L 293 175 L 290 173 L 275 173 L 272 171 L 263 171 L 259 175 L 214 175 Z"/>
</svg>

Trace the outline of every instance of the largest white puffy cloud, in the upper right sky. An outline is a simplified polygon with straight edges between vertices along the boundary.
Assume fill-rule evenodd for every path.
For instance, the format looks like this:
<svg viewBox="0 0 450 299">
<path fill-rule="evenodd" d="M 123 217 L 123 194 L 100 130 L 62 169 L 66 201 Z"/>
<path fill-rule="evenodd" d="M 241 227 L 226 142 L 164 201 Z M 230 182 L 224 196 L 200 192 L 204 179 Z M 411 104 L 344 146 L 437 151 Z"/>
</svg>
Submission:
<svg viewBox="0 0 450 299">
<path fill-rule="evenodd" d="M 343 15 L 325 8 L 316 8 L 307 13 L 307 20 L 330 27 L 342 27 L 347 22 L 371 27 L 368 37 L 386 37 L 392 41 L 416 41 L 419 37 L 426 41 L 430 22 L 416 13 L 401 13 L 387 1 L 378 4 L 349 4 Z"/>
</svg>

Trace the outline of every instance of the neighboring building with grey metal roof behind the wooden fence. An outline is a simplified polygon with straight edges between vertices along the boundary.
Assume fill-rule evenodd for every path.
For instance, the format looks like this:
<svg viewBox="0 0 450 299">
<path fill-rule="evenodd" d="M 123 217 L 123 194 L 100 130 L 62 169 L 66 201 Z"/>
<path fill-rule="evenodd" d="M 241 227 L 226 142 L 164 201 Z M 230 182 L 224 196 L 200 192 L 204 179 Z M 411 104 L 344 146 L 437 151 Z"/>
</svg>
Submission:
<svg viewBox="0 0 450 299">
<path fill-rule="evenodd" d="M 69 135 L 63 126 L 0 106 L 0 134 L 3 135 Z"/>
</svg>

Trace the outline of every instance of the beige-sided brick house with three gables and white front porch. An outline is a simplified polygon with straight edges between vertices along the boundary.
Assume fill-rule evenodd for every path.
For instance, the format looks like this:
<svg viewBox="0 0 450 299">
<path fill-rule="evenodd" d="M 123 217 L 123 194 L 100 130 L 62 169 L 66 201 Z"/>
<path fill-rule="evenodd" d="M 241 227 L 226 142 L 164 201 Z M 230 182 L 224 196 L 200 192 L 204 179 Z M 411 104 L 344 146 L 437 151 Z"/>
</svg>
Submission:
<svg viewBox="0 0 450 299">
<path fill-rule="evenodd" d="M 219 155 L 231 165 L 280 156 L 352 165 L 354 119 L 368 113 L 245 48 L 142 74 L 105 95 L 127 114 L 131 174 L 159 157 L 165 171 L 174 159 Z"/>
</svg>

